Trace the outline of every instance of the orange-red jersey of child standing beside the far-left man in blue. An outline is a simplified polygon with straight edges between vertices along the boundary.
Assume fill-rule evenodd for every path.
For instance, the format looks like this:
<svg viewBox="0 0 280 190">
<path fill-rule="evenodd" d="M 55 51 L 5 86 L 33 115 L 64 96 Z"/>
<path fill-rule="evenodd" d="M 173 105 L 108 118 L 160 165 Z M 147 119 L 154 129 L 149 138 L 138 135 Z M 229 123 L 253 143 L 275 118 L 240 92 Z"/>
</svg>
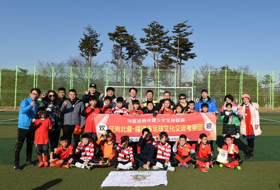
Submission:
<svg viewBox="0 0 280 190">
<path fill-rule="evenodd" d="M 41 120 L 37 118 L 34 122 L 35 129 L 35 144 L 48 144 L 48 129 L 52 129 L 50 119 Z"/>
</svg>

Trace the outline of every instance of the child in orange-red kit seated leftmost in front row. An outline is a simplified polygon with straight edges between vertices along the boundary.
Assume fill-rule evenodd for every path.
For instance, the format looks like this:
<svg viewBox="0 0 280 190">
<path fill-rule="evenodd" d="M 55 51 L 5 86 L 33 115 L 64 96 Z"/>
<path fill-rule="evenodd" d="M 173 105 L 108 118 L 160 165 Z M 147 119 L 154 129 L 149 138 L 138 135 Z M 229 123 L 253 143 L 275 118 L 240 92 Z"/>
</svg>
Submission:
<svg viewBox="0 0 280 190">
<path fill-rule="evenodd" d="M 73 145 L 69 144 L 69 139 L 67 135 L 62 135 L 60 137 L 60 146 L 54 148 L 53 157 L 49 160 L 50 167 L 55 167 L 52 161 L 57 158 L 59 159 L 58 163 L 62 163 L 59 167 L 69 168 L 70 163 L 72 163 L 73 157 Z"/>
</svg>

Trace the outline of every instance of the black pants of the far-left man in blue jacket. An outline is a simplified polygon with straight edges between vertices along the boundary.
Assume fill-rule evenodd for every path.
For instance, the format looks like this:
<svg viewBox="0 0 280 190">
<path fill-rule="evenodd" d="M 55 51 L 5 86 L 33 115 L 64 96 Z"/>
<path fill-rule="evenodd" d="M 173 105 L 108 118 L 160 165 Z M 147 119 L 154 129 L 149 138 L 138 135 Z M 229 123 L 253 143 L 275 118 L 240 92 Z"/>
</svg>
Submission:
<svg viewBox="0 0 280 190">
<path fill-rule="evenodd" d="M 13 165 L 19 164 L 19 153 L 26 138 L 26 161 L 31 161 L 35 130 L 17 128 L 16 144 L 13 150 Z"/>
</svg>

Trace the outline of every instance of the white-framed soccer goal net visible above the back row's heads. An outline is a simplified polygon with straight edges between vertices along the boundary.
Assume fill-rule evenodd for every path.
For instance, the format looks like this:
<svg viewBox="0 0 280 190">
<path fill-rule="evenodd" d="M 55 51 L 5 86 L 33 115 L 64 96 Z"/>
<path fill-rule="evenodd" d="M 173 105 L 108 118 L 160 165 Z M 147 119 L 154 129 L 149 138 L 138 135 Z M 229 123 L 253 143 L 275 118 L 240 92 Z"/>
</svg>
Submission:
<svg viewBox="0 0 280 190">
<path fill-rule="evenodd" d="M 194 100 L 193 99 L 193 88 L 192 87 L 154 87 L 154 86 L 105 86 L 104 95 L 106 95 L 107 87 L 113 87 L 115 89 L 114 94 L 116 97 L 129 97 L 129 88 L 135 87 L 137 91 L 136 97 L 141 98 L 143 101 L 147 100 L 146 91 L 153 91 L 153 99 L 159 101 L 163 99 L 164 91 L 169 91 L 171 94 L 170 99 L 175 103 L 179 102 L 178 95 L 183 93 L 186 95 L 186 100 Z"/>
</svg>

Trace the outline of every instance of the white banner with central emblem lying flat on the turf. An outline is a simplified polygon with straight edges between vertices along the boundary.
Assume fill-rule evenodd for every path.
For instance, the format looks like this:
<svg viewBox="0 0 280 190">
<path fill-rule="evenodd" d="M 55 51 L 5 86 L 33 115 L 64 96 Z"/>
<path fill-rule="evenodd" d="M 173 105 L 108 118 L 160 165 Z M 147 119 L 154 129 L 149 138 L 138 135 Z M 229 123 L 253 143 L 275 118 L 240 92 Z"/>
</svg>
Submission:
<svg viewBox="0 0 280 190">
<path fill-rule="evenodd" d="M 167 185 L 167 171 L 111 171 L 103 186 L 156 186 Z"/>
</svg>

